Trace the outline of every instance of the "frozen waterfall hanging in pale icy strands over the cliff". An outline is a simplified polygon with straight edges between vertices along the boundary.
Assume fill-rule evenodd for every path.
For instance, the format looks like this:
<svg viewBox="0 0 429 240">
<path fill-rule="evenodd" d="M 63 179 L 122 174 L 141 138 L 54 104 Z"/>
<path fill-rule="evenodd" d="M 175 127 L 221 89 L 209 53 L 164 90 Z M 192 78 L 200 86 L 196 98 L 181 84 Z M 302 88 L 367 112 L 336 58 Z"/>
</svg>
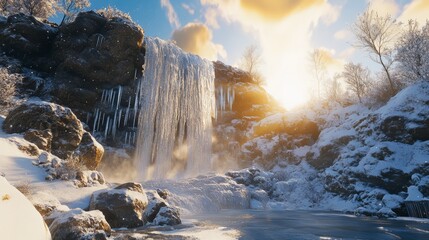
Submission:
<svg viewBox="0 0 429 240">
<path fill-rule="evenodd" d="M 213 64 L 159 38 L 145 38 L 140 90 L 139 178 L 191 177 L 211 169 Z"/>
</svg>

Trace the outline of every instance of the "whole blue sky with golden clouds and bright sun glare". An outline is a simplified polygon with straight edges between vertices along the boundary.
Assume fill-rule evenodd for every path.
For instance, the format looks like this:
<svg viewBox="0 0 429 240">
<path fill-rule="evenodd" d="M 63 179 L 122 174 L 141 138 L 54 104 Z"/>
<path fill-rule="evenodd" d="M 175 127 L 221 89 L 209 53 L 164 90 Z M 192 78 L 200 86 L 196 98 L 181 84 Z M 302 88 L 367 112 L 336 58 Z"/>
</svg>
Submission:
<svg viewBox="0 0 429 240">
<path fill-rule="evenodd" d="M 346 62 L 373 71 L 355 46 L 350 27 L 368 4 L 401 21 L 429 16 L 429 0 L 92 0 L 91 9 L 129 13 L 147 36 L 173 39 L 185 51 L 239 66 L 244 50 L 258 47 L 268 92 L 287 108 L 314 94 L 309 54 L 321 49 L 328 72 Z"/>
</svg>

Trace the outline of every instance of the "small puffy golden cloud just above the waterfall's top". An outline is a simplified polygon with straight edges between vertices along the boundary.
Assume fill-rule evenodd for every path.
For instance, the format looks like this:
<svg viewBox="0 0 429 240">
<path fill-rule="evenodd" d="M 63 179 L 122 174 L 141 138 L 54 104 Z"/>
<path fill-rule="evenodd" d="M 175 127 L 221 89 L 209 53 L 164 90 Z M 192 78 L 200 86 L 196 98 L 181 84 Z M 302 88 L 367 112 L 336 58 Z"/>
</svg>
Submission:
<svg viewBox="0 0 429 240">
<path fill-rule="evenodd" d="M 218 56 L 227 57 L 223 46 L 212 42 L 212 32 L 202 23 L 186 24 L 173 32 L 172 39 L 184 51 L 209 60 L 217 60 Z"/>
</svg>

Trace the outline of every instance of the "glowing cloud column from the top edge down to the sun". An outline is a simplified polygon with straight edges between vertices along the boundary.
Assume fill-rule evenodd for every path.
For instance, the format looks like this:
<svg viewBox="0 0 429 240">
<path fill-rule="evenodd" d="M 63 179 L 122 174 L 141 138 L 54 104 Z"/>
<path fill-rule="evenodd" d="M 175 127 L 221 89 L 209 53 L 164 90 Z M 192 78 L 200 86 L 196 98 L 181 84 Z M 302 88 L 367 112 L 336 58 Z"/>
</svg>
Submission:
<svg viewBox="0 0 429 240">
<path fill-rule="evenodd" d="M 239 23 L 257 40 L 267 90 L 281 103 L 305 102 L 314 84 L 308 69 L 312 34 L 319 22 L 332 23 L 341 8 L 327 0 L 200 0 L 205 9 L 214 8 L 218 18 Z M 233 33 L 231 33 L 233 34 Z"/>
</svg>

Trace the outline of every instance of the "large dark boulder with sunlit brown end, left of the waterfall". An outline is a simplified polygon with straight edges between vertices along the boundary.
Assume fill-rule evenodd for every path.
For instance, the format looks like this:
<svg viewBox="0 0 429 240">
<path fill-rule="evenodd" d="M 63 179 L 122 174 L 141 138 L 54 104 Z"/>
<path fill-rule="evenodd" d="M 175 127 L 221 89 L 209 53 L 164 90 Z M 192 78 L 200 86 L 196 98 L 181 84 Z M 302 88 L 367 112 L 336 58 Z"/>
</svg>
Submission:
<svg viewBox="0 0 429 240">
<path fill-rule="evenodd" d="M 104 148 L 69 109 L 54 103 L 27 103 L 13 109 L 4 121 L 7 133 L 24 133 L 24 138 L 40 149 L 62 158 L 78 160 L 94 170 Z"/>
</svg>

